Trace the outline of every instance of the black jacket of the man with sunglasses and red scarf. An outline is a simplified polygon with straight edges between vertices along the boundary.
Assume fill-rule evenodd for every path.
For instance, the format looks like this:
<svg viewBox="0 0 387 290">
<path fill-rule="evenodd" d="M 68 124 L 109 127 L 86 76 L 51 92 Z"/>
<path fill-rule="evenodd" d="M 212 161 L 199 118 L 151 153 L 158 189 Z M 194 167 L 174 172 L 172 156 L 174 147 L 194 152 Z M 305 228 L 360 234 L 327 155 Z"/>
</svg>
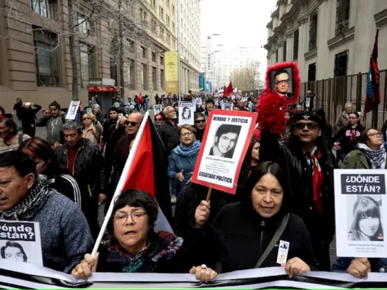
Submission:
<svg viewBox="0 0 387 290">
<path fill-rule="evenodd" d="M 261 162 L 272 161 L 281 166 L 288 174 L 290 189 L 294 202 L 290 209 L 305 222 L 313 238 L 318 235 L 330 237 L 334 234 L 334 184 L 333 170 L 335 167 L 331 151 L 322 150 L 322 157 L 317 158 L 323 172 L 323 215 L 317 211 L 313 199 L 312 177 L 305 174 L 306 158 L 301 146 L 295 142 L 279 142 L 274 133 L 261 132 Z"/>
</svg>

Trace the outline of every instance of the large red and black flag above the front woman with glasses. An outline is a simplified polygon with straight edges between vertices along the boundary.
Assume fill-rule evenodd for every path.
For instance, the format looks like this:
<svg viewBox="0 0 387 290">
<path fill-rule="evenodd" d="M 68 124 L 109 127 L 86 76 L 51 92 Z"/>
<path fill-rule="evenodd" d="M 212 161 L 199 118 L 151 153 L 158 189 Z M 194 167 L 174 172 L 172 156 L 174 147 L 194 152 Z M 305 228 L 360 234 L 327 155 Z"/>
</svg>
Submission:
<svg viewBox="0 0 387 290">
<path fill-rule="evenodd" d="M 164 146 L 150 118 L 147 119 L 141 136 L 137 137 L 140 137 L 140 143 L 137 148 L 134 148 L 135 155 L 122 191 L 133 188 L 147 191 L 158 201 L 169 224 L 173 224 L 167 158 Z"/>
</svg>

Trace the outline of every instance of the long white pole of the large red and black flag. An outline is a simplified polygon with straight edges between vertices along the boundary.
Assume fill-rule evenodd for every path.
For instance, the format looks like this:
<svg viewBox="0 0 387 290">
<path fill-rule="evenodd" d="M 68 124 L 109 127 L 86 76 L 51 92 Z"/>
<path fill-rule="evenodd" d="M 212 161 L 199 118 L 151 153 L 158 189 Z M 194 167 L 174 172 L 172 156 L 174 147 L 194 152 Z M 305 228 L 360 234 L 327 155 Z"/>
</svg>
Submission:
<svg viewBox="0 0 387 290">
<path fill-rule="evenodd" d="M 140 128 L 138 129 L 138 133 L 137 133 L 137 135 L 135 135 L 135 139 L 134 139 L 134 142 L 133 142 L 133 146 L 131 148 L 131 152 L 129 153 L 129 157 L 126 160 L 126 163 L 125 163 L 125 166 L 124 166 L 124 170 L 122 171 L 122 174 L 121 174 L 121 177 L 120 177 L 120 181 L 118 182 L 117 187 L 116 187 L 115 192 L 114 192 L 114 195 L 113 195 L 113 198 L 111 199 L 111 203 L 110 203 L 110 206 L 109 206 L 108 211 L 106 213 L 106 216 L 104 218 L 104 223 L 101 226 L 100 233 L 98 234 L 98 238 L 95 241 L 93 252 L 91 253 L 91 255 L 93 257 L 95 256 L 95 254 L 98 251 L 98 248 L 100 247 L 100 244 L 101 244 L 101 241 L 102 241 L 102 237 L 104 236 L 104 232 L 105 232 L 106 227 L 108 225 L 108 221 L 110 220 L 111 214 L 113 213 L 113 207 L 114 207 L 115 198 L 118 195 L 121 194 L 121 191 L 124 188 L 124 184 L 125 184 L 125 181 L 126 181 L 126 176 L 128 175 L 129 170 L 131 169 L 131 165 L 133 163 L 133 159 L 134 159 L 135 153 L 137 152 L 138 145 L 140 144 L 142 133 L 144 133 L 145 126 L 147 125 L 148 119 L 149 119 L 149 112 L 146 112 L 145 115 L 144 115 L 144 118 L 142 119 Z"/>
</svg>

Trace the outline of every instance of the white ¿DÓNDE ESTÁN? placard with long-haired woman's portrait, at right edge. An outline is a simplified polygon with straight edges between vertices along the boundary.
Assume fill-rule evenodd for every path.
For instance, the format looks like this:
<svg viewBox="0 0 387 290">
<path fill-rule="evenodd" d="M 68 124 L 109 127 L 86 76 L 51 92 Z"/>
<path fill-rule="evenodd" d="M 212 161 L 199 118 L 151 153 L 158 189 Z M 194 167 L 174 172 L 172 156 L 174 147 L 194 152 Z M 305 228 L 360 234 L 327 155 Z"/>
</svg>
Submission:
<svg viewBox="0 0 387 290">
<path fill-rule="evenodd" d="M 336 169 L 338 257 L 387 258 L 386 170 Z"/>
</svg>

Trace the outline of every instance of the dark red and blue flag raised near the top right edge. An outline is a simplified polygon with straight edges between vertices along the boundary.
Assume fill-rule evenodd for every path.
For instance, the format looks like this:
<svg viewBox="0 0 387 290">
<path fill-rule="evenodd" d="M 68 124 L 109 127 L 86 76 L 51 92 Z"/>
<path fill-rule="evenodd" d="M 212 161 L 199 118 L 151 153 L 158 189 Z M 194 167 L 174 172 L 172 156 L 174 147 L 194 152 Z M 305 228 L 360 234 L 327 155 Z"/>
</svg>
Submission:
<svg viewBox="0 0 387 290">
<path fill-rule="evenodd" d="M 367 75 L 366 108 L 364 114 L 380 104 L 379 67 L 377 65 L 377 39 L 379 28 L 376 30 L 374 48 L 370 59 L 370 69 Z"/>
</svg>

